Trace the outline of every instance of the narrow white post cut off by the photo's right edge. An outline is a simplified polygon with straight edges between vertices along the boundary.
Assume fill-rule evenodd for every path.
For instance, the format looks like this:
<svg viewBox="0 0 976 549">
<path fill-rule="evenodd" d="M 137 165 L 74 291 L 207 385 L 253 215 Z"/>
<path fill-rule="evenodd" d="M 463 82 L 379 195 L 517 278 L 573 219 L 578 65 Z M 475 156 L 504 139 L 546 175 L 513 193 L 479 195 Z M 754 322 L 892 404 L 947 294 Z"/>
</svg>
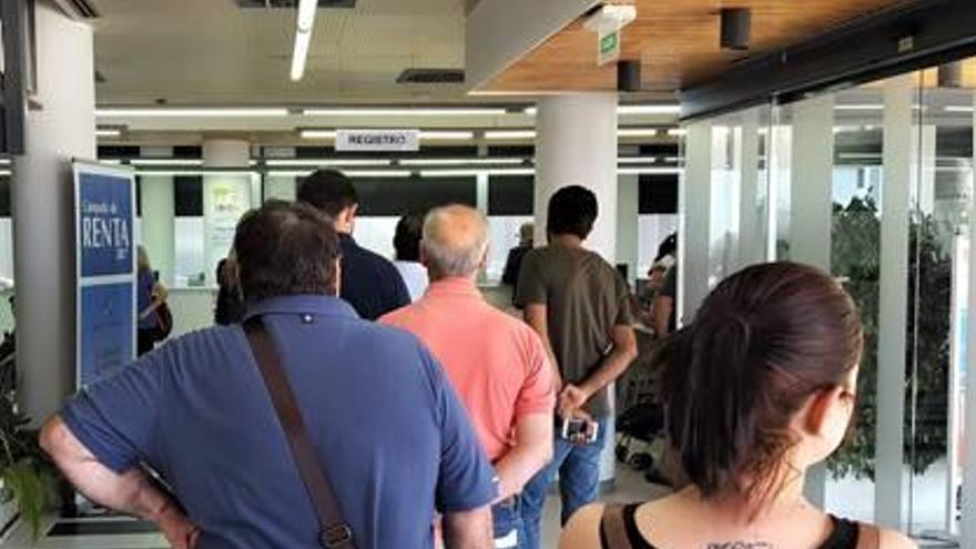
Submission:
<svg viewBox="0 0 976 549">
<path fill-rule="evenodd" d="M 976 94 L 973 95 L 973 104 L 976 106 Z M 974 110 L 976 113 L 976 110 Z M 976 114 L 973 115 L 973 139 L 976 143 Z M 973 151 L 973 161 L 976 162 L 976 150 Z M 974 182 L 976 186 L 976 182 Z M 969 197 L 969 297 L 968 309 L 972 315 L 976 311 L 976 199 Z M 972 318 L 967 323 L 966 337 L 966 364 L 976 365 L 976 322 Z M 966 376 L 966 409 L 963 411 L 965 416 L 965 434 L 963 444 L 965 445 L 965 457 L 963 458 L 963 519 L 959 521 L 959 547 L 976 547 L 976 375 Z M 952 434 L 949 434 L 952 436 Z"/>
</svg>

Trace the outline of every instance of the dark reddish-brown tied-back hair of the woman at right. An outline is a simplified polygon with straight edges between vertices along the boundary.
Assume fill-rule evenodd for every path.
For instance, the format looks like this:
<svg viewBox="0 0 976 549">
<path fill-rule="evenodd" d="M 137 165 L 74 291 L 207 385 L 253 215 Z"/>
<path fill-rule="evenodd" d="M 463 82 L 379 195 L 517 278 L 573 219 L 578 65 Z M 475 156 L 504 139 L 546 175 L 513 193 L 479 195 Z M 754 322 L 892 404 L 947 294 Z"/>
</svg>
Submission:
<svg viewBox="0 0 976 549">
<path fill-rule="evenodd" d="M 771 263 L 719 284 L 655 358 L 668 434 L 702 497 L 761 504 L 779 490 L 791 420 L 845 385 L 862 346 L 854 303 L 816 268 Z"/>
</svg>

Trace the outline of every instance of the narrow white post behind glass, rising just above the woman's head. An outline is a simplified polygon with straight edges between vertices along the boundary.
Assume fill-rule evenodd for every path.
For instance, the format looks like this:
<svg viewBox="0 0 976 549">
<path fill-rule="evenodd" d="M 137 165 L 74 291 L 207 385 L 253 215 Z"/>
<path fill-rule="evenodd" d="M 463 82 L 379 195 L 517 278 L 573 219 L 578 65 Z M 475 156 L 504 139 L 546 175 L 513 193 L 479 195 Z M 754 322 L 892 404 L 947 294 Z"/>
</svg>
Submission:
<svg viewBox="0 0 976 549">
<path fill-rule="evenodd" d="M 765 260 L 763 210 L 760 207 L 759 111 L 743 113 L 742 162 L 739 166 L 739 267 Z"/>
</svg>

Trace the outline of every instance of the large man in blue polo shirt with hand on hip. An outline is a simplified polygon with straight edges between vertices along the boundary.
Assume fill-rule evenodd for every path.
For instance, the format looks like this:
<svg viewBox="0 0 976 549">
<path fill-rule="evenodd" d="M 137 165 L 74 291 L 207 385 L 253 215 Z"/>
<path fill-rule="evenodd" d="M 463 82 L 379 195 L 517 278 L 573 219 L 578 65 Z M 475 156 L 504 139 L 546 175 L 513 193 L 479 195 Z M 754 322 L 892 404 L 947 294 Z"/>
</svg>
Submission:
<svg viewBox="0 0 976 549">
<path fill-rule="evenodd" d="M 429 548 L 435 512 L 447 547 L 491 547 L 497 486 L 464 406 L 414 336 L 334 297 L 327 221 L 268 203 L 241 222 L 234 250 L 248 315 L 277 348 L 356 547 Z M 174 547 L 321 547 L 240 325 L 181 337 L 81 390 L 41 444 L 82 494 L 155 521 Z"/>
</svg>

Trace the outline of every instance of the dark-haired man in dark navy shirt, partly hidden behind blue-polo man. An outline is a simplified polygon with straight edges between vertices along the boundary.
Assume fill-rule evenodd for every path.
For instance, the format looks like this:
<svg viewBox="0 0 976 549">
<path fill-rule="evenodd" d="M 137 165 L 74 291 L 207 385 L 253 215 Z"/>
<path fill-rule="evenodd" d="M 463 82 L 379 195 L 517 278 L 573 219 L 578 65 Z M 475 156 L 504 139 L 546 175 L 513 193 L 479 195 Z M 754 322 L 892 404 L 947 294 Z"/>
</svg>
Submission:
<svg viewBox="0 0 976 549">
<path fill-rule="evenodd" d="M 359 316 L 375 321 L 410 304 L 410 294 L 394 264 L 353 238 L 359 199 L 348 177 L 335 170 L 318 170 L 302 182 L 298 201 L 332 217 L 343 250 L 340 297 Z"/>
</svg>

